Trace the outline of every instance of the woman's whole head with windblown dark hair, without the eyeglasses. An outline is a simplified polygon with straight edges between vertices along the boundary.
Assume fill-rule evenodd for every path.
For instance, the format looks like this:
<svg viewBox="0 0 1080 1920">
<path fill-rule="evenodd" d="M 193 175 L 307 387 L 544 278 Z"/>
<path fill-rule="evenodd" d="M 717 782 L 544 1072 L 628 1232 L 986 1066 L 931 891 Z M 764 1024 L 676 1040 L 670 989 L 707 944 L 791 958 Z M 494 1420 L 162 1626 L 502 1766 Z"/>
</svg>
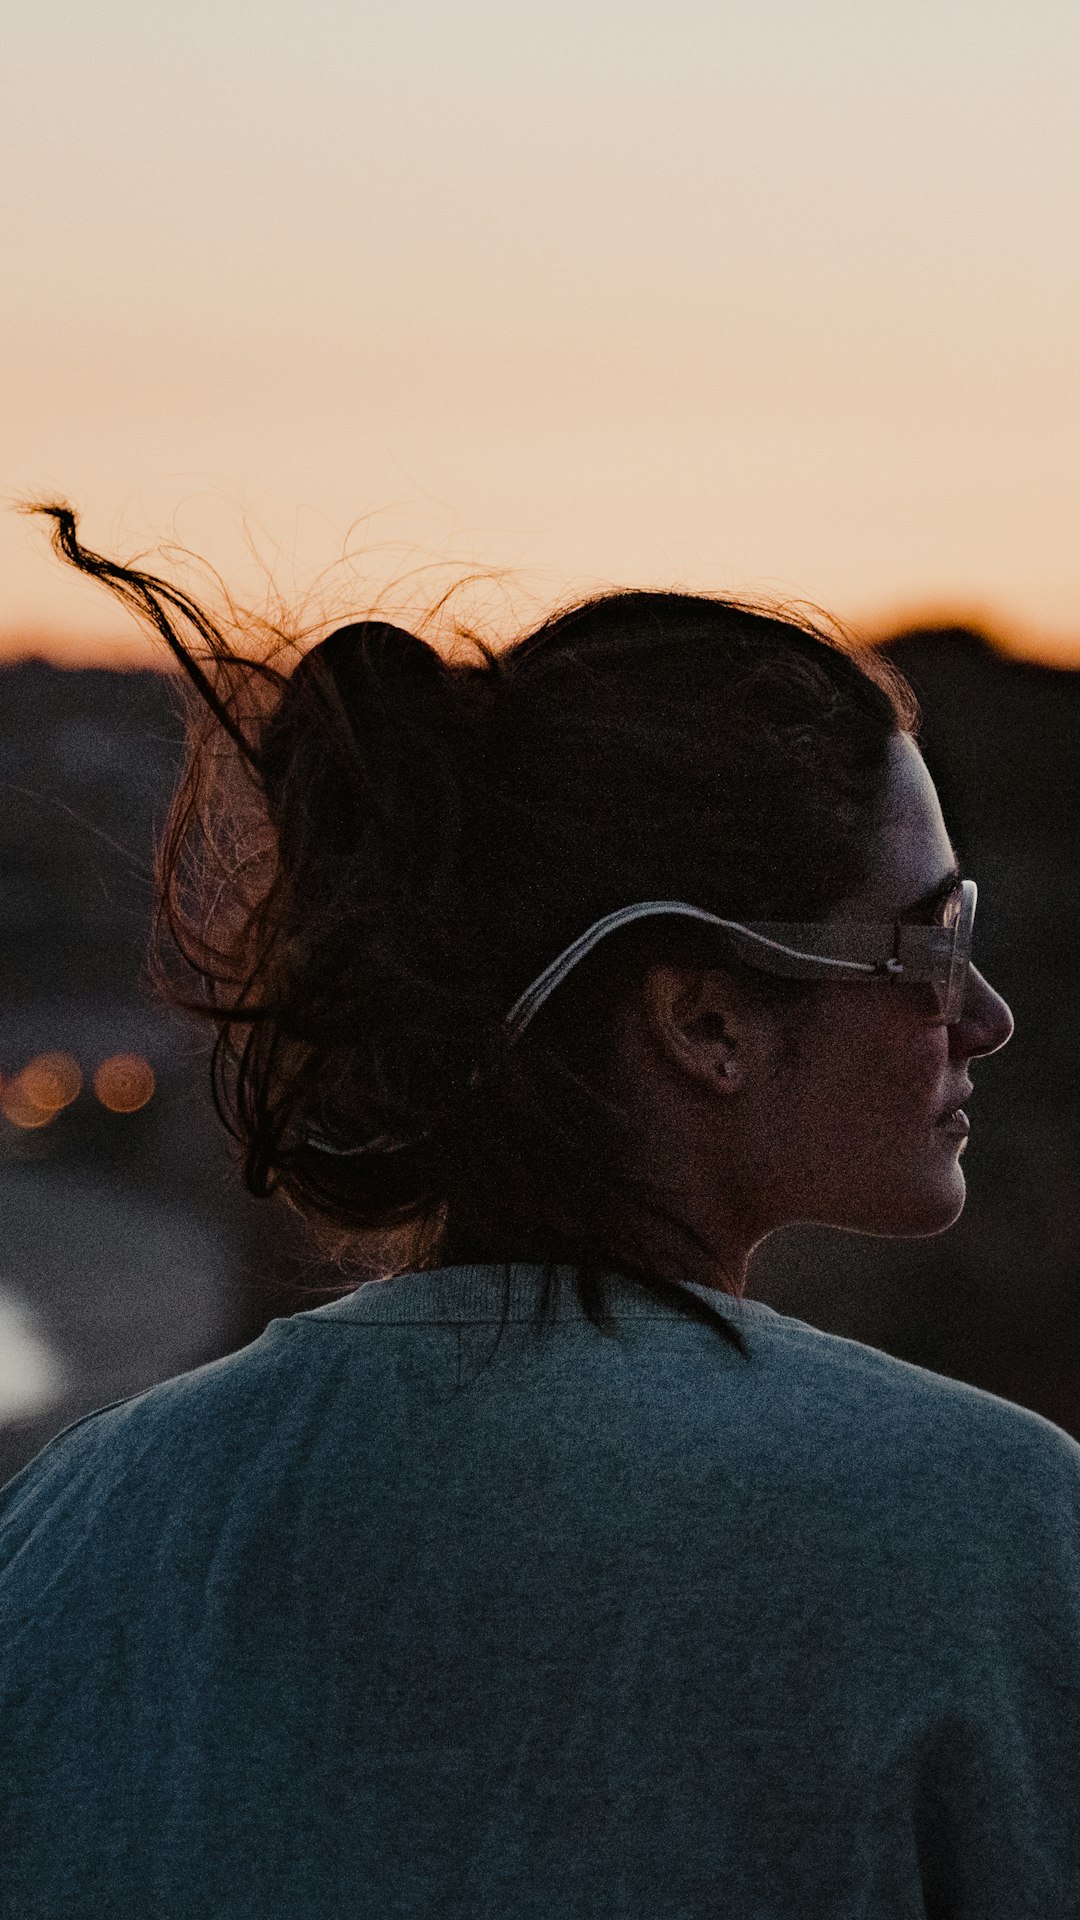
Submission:
<svg viewBox="0 0 1080 1920">
<path fill-rule="evenodd" d="M 58 540 L 184 659 L 171 589 L 86 555 L 73 522 Z M 407 1265 L 571 1263 L 586 1304 L 611 1267 L 740 1290 L 784 1219 L 934 1233 L 959 1213 L 955 1146 L 915 1133 L 1007 1039 L 984 983 L 945 1029 L 922 989 L 780 979 L 717 929 L 638 920 L 505 1044 L 521 991 L 619 906 L 890 920 L 940 877 L 919 705 L 882 657 L 709 595 L 615 591 L 465 660 L 357 622 L 282 672 L 194 611 L 240 753 L 192 707 L 160 925 L 202 991 L 161 958 L 156 977 L 217 1021 L 254 1192 L 361 1258 L 411 1225 Z"/>
</svg>

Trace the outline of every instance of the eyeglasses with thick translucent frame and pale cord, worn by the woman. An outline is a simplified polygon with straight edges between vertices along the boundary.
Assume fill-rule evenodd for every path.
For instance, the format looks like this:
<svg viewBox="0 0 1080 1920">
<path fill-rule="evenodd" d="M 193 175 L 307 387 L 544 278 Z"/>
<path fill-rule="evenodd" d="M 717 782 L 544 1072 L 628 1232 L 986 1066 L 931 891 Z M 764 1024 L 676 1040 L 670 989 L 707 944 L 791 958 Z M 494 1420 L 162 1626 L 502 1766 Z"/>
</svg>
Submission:
<svg viewBox="0 0 1080 1920">
<path fill-rule="evenodd" d="M 905 985 L 930 985 L 938 1014 L 951 1023 L 961 1018 L 965 1004 L 976 899 L 974 879 L 963 879 L 947 900 L 945 918 L 934 925 L 905 920 L 892 924 L 751 920 L 744 925 L 738 920 L 719 920 L 717 914 L 707 914 L 703 906 L 690 906 L 686 900 L 638 900 L 596 920 L 544 968 L 505 1016 L 507 1035 L 515 1041 L 525 1031 L 548 995 L 605 933 L 646 914 L 682 914 L 711 927 L 724 927 L 736 954 L 765 973 L 782 973 L 788 979 L 892 977 Z"/>
</svg>

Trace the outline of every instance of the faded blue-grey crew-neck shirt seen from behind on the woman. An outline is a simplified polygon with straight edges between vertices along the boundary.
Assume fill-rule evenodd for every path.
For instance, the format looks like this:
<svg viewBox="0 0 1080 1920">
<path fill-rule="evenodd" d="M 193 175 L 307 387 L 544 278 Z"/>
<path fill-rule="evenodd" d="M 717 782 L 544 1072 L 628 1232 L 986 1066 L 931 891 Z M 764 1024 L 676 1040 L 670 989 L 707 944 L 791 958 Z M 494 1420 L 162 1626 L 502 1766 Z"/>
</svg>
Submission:
<svg viewBox="0 0 1080 1920">
<path fill-rule="evenodd" d="M 12 1920 L 1080 1916 L 1080 1446 L 705 1294 L 361 1286 L 0 1494 Z"/>
</svg>

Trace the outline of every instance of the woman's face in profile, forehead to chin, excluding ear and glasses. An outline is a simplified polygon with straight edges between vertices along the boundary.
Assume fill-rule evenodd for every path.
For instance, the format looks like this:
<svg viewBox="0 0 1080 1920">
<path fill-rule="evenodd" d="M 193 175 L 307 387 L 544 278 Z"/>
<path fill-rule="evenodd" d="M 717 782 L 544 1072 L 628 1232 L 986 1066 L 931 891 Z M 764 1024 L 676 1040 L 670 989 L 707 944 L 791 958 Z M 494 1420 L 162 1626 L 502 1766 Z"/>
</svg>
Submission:
<svg viewBox="0 0 1080 1920">
<path fill-rule="evenodd" d="M 894 735 L 890 755 L 874 874 L 834 920 L 942 918 L 942 906 L 917 910 L 955 866 L 938 793 L 909 733 Z M 790 1075 L 773 1081 L 769 1158 L 784 1219 L 915 1238 L 951 1227 L 967 1196 L 967 1140 L 938 1116 L 969 1106 L 970 1062 L 1011 1039 L 1005 1000 L 972 964 L 951 1025 L 932 987 L 888 977 L 828 985 L 813 1008 Z M 978 1104 L 970 1119 L 978 1150 Z"/>
</svg>

